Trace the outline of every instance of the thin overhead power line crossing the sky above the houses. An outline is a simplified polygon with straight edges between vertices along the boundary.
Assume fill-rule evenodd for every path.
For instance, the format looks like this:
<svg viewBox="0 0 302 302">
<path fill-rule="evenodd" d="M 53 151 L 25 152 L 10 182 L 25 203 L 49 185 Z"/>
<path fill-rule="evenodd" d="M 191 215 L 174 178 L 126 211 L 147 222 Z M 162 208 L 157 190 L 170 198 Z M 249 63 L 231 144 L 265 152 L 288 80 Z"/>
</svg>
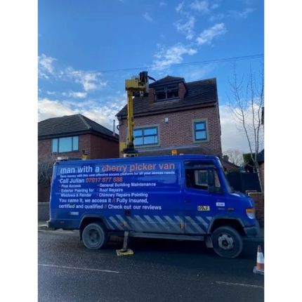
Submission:
<svg viewBox="0 0 302 302">
<path fill-rule="evenodd" d="M 242 55 L 239 57 L 231 57 L 231 58 L 223 58 L 223 59 L 214 59 L 214 60 L 204 60 L 204 61 L 195 61 L 190 63 L 178 63 L 178 64 L 169 64 L 169 65 L 151 65 L 151 66 L 144 66 L 144 67 L 130 67 L 130 68 L 123 68 L 117 70 L 91 70 L 91 71 L 80 71 L 80 72 L 68 72 L 62 74 L 48 74 L 47 77 L 62 77 L 65 75 L 70 74 L 91 74 L 91 73 L 111 73 L 111 72 L 128 72 L 131 70 L 155 70 L 159 68 L 167 68 L 167 67 L 182 67 L 182 66 L 190 66 L 190 65 L 203 65 L 203 64 L 213 64 L 213 63 L 223 63 L 223 62 L 230 62 L 230 61 L 237 61 L 237 60 L 252 60 L 256 58 L 263 58 L 263 53 L 259 53 L 257 55 Z"/>
</svg>

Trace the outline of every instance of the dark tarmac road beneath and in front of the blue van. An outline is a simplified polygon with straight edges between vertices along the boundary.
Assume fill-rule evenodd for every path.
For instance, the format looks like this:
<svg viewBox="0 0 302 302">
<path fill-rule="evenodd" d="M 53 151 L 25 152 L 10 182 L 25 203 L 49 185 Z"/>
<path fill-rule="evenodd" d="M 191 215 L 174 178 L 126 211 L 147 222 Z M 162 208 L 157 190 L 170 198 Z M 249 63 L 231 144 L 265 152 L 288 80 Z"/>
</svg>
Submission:
<svg viewBox="0 0 302 302">
<path fill-rule="evenodd" d="M 203 242 L 134 239 L 133 256 L 117 256 L 122 240 L 88 250 L 77 231 L 39 230 L 39 301 L 264 301 L 255 275 L 257 244 L 235 259 Z"/>
</svg>

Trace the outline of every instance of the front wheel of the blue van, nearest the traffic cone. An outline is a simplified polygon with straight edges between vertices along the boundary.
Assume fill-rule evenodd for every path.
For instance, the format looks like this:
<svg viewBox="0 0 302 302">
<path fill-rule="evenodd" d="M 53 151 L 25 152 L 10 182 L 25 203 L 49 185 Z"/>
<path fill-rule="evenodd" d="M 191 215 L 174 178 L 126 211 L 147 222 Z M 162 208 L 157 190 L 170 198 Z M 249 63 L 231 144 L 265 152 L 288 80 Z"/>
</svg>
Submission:
<svg viewBox="0 0 302 302">
<path fill-rule="evenodd" d="M 242 237 L 235 228 L 223 226 L 216 228 L 211 235 L 214 251 L 224 258 L 236 258 L 242 252 Z"/>
</svg>

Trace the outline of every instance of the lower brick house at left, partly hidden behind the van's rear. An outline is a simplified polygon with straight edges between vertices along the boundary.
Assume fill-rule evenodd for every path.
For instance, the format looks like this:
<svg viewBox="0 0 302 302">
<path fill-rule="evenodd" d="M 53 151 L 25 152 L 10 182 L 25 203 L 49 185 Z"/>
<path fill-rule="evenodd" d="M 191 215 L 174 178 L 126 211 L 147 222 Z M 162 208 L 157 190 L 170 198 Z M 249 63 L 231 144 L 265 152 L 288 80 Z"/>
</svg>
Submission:
<svg viewBox="0 0 302 302">
<path fill-rule="evenodd" d="M 82 114 L 53 117 L 38 123 L 40 202 L 49 200 L 48 179 L 55 159 L 82 156 L 86 159 L 119 157 L 119 136 Z"/>
</svg>

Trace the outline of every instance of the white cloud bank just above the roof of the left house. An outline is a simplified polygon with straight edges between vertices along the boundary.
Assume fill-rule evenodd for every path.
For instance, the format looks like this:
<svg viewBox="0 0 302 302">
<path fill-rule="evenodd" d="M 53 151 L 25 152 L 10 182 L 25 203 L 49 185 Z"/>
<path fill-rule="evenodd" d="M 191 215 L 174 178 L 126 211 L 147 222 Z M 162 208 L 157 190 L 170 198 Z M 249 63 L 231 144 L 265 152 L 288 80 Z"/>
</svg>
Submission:
<svg viewBox="0 0 302 302">
<path fill-rule="evenodd" d="M 110 100 L 110 101 L 109 101 Z M 95 101 L 85 103 L 69 102 L 60 100 L 50 100 L 43 98 L 38 102 L 38 119 L 43 121 L 51 117 L 63 117 L 81 113 L 94 122 L 112 130 L 112 120 L 116 119 L 115 114 L 126 104 L 126 96 L 110 97 L 104 105 Z"/>
</svg>

